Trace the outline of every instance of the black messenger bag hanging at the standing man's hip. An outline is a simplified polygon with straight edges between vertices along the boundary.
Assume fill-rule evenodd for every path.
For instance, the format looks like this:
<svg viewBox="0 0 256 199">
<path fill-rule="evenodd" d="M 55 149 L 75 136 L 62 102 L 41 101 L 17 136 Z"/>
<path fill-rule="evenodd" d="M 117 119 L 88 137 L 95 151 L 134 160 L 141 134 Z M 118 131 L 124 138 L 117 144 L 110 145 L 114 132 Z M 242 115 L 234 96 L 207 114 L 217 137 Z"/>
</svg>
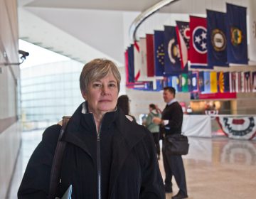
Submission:
<svg viewBox="0 0 256 199">
<path fill-rule="evenodd" d="M 164 139 L 164 153 L 166 155 L 188 154 L 188 137 L 182 134 L 172 134 Z"/>
</svg>

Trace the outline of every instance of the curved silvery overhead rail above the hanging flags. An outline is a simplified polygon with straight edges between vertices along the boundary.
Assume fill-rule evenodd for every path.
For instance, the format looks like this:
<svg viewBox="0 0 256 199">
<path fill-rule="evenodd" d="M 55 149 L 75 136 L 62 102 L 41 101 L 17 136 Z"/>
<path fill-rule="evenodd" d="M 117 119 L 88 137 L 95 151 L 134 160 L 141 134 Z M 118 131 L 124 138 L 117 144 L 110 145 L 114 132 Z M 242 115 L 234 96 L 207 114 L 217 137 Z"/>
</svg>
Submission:
<svg viewBox="0 0 256 199">
<path fill-rule="evenodd" d="M 146 20 L 146 18 L 148 18 L 149 16 L 154 14 L 156 11 L 158 11 L 162 7 L 167 6 L 168 4 L 172 4 L 175 1 L 179 1 L 179 0 L 163 0 L 163 1 L 159 1 L 158 3 L 154 4 L 153 6 L 151 6 L 149 9 L 146 9 L 146 11 L 143 11 L 141 14 L 139 14 L 137 16 L 137 18 L 134 19 L 134 21 L 132 22 L 132 24 L 131 24 L 131 26 L 129 28 L 129 36 L 132 39 L 132 41 L 137 41 L 137 38 L 136 38 L 137 29 L 142 24 L 142 22 Z"/>
</svg>

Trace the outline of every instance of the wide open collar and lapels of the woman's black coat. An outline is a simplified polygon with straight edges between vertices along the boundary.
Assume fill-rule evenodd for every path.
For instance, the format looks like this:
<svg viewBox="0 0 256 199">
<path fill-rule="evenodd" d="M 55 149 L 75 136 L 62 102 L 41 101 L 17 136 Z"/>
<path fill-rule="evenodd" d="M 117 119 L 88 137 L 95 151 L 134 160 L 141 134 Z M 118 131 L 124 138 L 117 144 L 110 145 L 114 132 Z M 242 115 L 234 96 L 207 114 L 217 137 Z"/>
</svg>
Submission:
<svg viewBox="0 0 256 199">
<path fill-rule="evenodd" d="M 90 155 L 87 146 L 82 141 L 85 139 L 83 132 L 85 129 L 94 129 L 96 132 L 96 127 L 93 115 L 91 113 L 82 112 L 82 106 L 85 106 L 86 108 L 86 103 L 85 105 L 81 104 L 70 118 L 67 131 L 65 131 L 65 134 L 63 135 L 63 141 L 75 144 Z M 130 122 L 119 108 L 114 112 L 107 112 L 102 119 L 102 128 L 108 128 L 112 124 L 116 125 L 117 132 L 114 134 L 112 142 L 113 156 L 110 171 L 110 198 L 112 191 L 114 190 L 114 183 L 117 181 L 117 177 L 119 176 L 124 161 L 127 159 L 130 151 L 132 151 L 132 148 L 139 143 L 145 135 L 143 132 L 144 130 L 142 129 L 143 127 L 135 122 Z"/>
</svg>

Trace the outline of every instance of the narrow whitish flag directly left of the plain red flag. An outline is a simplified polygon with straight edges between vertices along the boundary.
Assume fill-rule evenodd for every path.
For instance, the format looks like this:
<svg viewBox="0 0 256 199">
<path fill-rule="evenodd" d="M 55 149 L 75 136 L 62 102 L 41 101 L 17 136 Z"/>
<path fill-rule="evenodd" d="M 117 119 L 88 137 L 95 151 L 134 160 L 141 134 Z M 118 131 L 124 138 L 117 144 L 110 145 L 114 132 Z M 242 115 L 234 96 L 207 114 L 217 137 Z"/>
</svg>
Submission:
<svg viewBox="0 0 256 199">
<path fill-rule="evenodd" d="M 140 55 L 140 77 L 141 80 L 146 80 L 146 38 L 139 38 L 139 55 Z"/>
</svg>

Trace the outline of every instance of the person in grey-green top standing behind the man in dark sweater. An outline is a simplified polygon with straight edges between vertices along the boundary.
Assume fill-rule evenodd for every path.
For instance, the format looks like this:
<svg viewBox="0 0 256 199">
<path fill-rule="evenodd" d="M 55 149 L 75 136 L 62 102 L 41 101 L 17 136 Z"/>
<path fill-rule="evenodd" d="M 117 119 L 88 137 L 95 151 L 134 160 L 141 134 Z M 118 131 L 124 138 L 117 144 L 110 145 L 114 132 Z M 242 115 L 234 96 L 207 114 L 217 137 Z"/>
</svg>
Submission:
<svg viewBox="0 0 256 199">
<path fill-rule="evenodd" d="M 154 124 L 154 122 L 152 122 L 152 119 L 154 117 L 161 117 L 161 114 L 156 109 L 155 104 L 149 104 L 149 114 L 146 117 L 145 127 L 149 129 L 149 131 L 151 131 L 154 137 L 154 142 L 156 144 L 157 159 L 159 160 L 160 159 L 159 124 Z"/>
</svg>

